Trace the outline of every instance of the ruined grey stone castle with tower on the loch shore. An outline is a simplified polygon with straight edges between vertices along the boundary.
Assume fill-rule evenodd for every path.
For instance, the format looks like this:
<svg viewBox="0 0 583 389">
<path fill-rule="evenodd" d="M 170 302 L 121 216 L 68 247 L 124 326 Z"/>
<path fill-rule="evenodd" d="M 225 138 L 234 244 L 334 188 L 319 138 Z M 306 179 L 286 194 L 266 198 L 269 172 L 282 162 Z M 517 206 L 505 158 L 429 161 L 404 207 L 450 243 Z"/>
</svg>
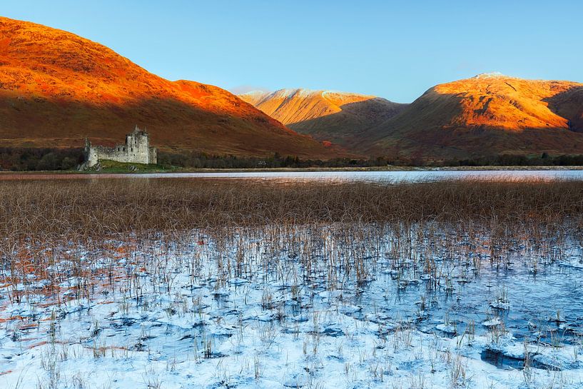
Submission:
<svg viewBox="0 0 583 389">
<path fill-rule="evenodd" d="M 118 144 L 115 147 L 93 146 L 85 139 L 85 166 L 91 167 L 99 160 L 128 162 L 128 163 L 156 163 L 158 151 L 150 146 L 150 140 L 146 130 L 136 128 L 126 135 L 126 144 Z"/>
</svg>

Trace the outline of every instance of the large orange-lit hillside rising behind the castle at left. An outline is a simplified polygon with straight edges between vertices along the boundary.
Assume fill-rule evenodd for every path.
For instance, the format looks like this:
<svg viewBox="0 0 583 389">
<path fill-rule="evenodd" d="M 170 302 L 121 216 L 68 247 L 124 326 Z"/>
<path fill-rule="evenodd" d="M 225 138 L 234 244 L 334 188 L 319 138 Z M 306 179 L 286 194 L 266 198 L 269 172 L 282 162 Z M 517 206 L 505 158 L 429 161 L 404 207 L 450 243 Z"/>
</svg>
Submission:
<svg viewBox="0 0 583 389">
<path fill-rule="evenodd" d="M 167 150 L 338 153 L 216 86 L 168 81 L 88 39 L 0 17 L 0 146 L 112 145 L 136 124 Z"/>
</svg>

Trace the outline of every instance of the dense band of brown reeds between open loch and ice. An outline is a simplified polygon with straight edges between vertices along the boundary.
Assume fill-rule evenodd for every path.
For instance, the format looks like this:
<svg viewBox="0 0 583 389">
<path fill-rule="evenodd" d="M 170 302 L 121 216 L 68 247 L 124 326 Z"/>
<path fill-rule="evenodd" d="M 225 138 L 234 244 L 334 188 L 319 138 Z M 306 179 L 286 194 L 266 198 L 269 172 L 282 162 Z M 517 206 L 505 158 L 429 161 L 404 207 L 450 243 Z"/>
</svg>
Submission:
<svg viewBox="0 0 583 389">
<path fill-rule="evenodd" d="M 581 181 L 433 183 L 185 179 L 0 182 L 0 234 L 104 238 L 278 223 L 581 225 Z"/>
</svg>

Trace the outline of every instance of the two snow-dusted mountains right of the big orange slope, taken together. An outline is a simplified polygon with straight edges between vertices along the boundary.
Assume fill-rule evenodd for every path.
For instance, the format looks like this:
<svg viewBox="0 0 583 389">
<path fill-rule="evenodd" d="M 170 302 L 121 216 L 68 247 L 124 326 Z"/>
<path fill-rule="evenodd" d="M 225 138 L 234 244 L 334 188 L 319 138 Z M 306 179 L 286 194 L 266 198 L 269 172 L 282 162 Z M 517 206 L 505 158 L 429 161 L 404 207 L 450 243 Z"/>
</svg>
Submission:
<svg viewBox="0 0 583 389">
<path fill-rule="evenodd" d="M 501 153 L 583 153 L 583 84 L 527 80 L 500 73 L 427 89 L 410 104 L 377 106 L 390 101 L 358 96 L 353 102 L 328 104 L 325 111 L 297 101 L 325 91 L 282 89 L 252 92 L 243 99 L 295 131 L 330 140 L 367 156 L 393 158 L 480 158 Z M 379 100 L 380 99 L 380 100 Z M 320 99 L 320 103 L 321 103 Z M 351 116 L 351 109 L 365 116 Z M 396 103 L 391 103 L 396 104 Z M 288 106 L 295 109 L 290 111 Z M 379 114 L 379 112 L 381 114 Z M 383 114 L 385 116 L 383 116 Z"/>
</svg>

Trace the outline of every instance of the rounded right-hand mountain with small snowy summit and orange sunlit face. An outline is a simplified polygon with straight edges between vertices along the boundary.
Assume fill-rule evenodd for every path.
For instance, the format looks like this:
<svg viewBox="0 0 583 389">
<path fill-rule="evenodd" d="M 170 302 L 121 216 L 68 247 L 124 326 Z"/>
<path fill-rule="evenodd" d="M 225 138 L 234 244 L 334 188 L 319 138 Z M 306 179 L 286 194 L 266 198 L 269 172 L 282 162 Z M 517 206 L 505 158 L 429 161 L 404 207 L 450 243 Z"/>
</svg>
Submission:
<svg viewBox="0 0 583 389">
<path fill-rule="evenodd" d="M 482 74 L 437 85 L 354 147 L 415 158 L 583 153 L 583 84 Z"/>
</svg>

